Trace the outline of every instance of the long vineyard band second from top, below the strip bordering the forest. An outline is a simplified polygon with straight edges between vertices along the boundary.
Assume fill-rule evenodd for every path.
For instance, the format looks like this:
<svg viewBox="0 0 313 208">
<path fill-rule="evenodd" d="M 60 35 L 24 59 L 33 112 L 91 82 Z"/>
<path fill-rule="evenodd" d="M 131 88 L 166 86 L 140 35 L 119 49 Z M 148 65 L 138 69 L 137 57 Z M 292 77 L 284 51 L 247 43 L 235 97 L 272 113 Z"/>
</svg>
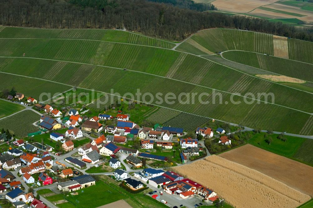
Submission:
<svg viewBox="0 0 313 208">
<path fill-rule="evenodd" d="M 171 80 L 188 82 L 200 87 L 230 93 L 241 93 L 242 95 L 248 92 L 254 93 L 255 96 L 257 93 L 272 92 L 275 95 L 279 95 L 275 97 L 275 104 L 300 111 L 312 111 L 310 104 L 310 102 L 313 102 L 312 94 L 279 85 L 265 79 L 249 76 L 205 58 L 182 52 L 89 40 L 0 39 L 0 45 L 3 48 L 0 51 L 0 56 L 21 57 L 20 59 L 22 60 L 19 61 L 19 64 L 26 62 L 26 59 L 34 57 L 90 65 L 105 65 L 119 69 L 127 68 L 127 70 L 167 77 Z M 23 57 L 21 51 L 26 52 L 25 57 Z M 10 63 L 3 63 L 3 67 L 6 67 L 6 64 Z M 35 66 L 32 65 L 32 67 Z M 64 72 L 62 66 L 56 66 L 55 68 L 59 73 Z M 29 69 L 24 72 L 18 66 L 15 69 L 22 71 L 21 74 L 32 73 L 34 71 L 33 69 Z M 10 73 L 9 69 L 6 70 L 8 70 L 6 72 Z M 43 70 L 43 67 L 40 70 Z M 64 75 L 64 78 L 66 78 L 67 74 Z M 34 76 L 38 76 L 38 74 Z M 239 83 L 241 81 L 245 82 L 243 86 L 241 86 L 242 83 Z M 290 95 L 293 96 L 292 100 L 290 99 Z M 303 97 L 307 97 L 305 102 L 302 101 Z M 265 101 L 264 97 L 260 99 Z"/>
</svg>

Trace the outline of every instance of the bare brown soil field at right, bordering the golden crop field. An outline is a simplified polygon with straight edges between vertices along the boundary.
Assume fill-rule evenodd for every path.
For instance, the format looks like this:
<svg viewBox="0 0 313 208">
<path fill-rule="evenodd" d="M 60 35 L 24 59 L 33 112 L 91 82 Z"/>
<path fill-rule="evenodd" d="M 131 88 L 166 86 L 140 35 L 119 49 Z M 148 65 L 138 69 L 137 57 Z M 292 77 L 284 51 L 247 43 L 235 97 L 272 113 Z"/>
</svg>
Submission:
<svg viewBox="0 0 313 208">
<path fill-rule="evenodd" d="M 219 156 L 260 171 L 302 193 L 313 196 L 313 167 L 311 166 L 252 145 L 244 145 Z"/>
</svg>

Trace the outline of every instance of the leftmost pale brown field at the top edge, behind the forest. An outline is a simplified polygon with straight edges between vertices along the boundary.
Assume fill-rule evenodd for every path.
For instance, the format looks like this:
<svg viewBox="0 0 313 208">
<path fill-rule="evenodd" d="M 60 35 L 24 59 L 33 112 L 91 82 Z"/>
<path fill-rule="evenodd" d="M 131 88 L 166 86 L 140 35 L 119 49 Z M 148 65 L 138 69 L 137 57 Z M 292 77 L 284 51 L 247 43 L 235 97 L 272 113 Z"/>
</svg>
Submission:
<svg viewBox="0 0 313 208">
<path fill-rule="evenodd" d="M 212 2 L 212 4 L 215 7 L 217 7 L 219 10 L 227 11 L 227 12 L 238 12 L 238 13 L 250 12 L 251 10 L 258 7 L 255 5 L 249 5 L 249 4 L 227 1 L 227 0 L 216 0 Z"/>
</svg>

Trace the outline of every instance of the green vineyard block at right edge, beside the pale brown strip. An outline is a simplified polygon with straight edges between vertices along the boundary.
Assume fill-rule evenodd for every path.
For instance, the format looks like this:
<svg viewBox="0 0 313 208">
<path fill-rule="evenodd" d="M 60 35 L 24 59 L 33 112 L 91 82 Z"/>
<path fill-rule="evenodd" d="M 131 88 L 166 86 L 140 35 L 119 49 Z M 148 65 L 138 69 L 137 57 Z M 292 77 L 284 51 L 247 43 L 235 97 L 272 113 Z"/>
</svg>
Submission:
<svg viewBox="0 0 313 208">
<path fill-rule="evenodd" d="M 288 39 L 289 58 L 301 62 L 313 63 L 313 43 L 297 39 Z"/>
</svg>

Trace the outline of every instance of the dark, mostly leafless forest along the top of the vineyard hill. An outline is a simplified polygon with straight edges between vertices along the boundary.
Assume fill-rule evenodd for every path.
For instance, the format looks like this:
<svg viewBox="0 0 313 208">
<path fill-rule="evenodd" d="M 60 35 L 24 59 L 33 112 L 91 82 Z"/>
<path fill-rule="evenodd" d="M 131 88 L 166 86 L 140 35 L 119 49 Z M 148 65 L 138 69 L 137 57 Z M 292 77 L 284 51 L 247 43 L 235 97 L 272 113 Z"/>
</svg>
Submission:
<svg viewBox="0 0 313 208">
<path fill-rule="evenodd" d="M 39 28 L 126 28 L 169 40 L 182 40 L 201 29 L 249 29 L 313 41 L 313 29 L 221 12 L 183 9 L 186 0 L 0 0 L 0 24 Z M 190 4 L 192 6 L 192 4 Z"/>
</svg>

